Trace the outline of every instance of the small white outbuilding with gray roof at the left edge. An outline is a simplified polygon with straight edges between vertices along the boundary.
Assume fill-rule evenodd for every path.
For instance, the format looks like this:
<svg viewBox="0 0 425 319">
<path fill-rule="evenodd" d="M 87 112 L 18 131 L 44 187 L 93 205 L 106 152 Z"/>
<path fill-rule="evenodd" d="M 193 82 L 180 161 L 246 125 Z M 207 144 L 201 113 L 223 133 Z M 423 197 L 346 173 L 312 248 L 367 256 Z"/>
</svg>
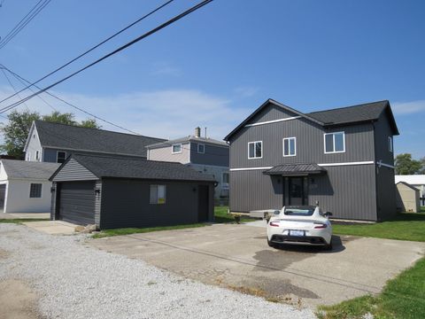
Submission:
<svg viewBox="0 0 425 319">
<path fill-rule="evenodd" d="M 60 164 L 15 159 L 2 159 L 0 162 L 0 211 L 50 212 L 49 178 Z"/>
</svg>

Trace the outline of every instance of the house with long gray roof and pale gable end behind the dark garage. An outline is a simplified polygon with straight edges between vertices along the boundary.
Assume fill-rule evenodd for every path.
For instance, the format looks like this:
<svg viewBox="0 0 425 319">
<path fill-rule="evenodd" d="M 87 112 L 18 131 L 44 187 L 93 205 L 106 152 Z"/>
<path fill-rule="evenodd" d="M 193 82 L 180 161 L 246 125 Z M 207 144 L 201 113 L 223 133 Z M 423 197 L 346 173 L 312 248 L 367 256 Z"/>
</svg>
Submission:
<svg viewBox="0 0 425 319">
<path fill-rule="evenodd" d="M 146 146 L 165 141 L 97 128 L 34 121 L 25 144 L 25 160 L 63 163 L 72 153 L 146 159 Z"/>
</svg>

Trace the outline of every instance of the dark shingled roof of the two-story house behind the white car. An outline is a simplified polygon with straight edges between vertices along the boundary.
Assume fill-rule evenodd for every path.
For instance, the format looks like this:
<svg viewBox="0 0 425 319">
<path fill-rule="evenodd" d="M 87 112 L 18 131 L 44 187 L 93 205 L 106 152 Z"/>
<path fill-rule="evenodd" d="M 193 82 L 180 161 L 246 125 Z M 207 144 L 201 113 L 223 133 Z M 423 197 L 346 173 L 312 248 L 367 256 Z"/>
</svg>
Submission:
<svg viewBox="0 0 425 319">
<path fill-rule="evenodd" d="M 352 105 L 346 106 L 336 109 L 330 109 L 319 112 L 312 113 L 301 113 L 295 109 L 290 108 L 287 105 L 282 105 L 279 102 L 274 101 L 273 99 L 267 99 L 265 103 L 259 106 L 257 110 L 251 113 L 241 124 L 239 124 L 234 130 L 232 130 L 228 136 L 224 137 L 224 140 L 228 141 L 228 139 L 233 136 L 236 131 L 240 128 L 243 128 L 251 119 L 261 112 L 267 105 L 273 104 L 286 111 L 290 111 L 292 113 L 297 114 L 307 120 L 313 121 L 317 124 L 320 124 L 323 127 L 334 126 L 334 125 L 343 125 L 343 124 L 353 124 L 363 121 L 377 121 L 381 114 L 385 111 L 390 120 L 390 126 L 393 130 L 394 135 L 398 135 L 398 128 L 396 121 L 394 120 L 394 116 L 391 112 L 390 102 L 388 100 L 371 102 L 361 105 Z"/>
</svg>

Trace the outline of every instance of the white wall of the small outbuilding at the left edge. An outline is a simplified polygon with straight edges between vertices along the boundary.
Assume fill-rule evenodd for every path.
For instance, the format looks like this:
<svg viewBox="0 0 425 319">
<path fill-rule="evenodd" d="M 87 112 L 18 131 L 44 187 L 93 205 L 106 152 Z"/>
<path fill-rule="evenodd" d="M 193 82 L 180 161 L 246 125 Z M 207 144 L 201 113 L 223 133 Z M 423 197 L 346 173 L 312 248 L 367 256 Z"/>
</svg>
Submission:
<svg viewBox="0 0 425 319">
<path fill-rule="evenodd" d="M 42 184 L 42 197 L 29 198 L 31 183 Z M 10 180 L 6 187 L 4 213 L 49 213 L 51 182 Z"/>
</svg>

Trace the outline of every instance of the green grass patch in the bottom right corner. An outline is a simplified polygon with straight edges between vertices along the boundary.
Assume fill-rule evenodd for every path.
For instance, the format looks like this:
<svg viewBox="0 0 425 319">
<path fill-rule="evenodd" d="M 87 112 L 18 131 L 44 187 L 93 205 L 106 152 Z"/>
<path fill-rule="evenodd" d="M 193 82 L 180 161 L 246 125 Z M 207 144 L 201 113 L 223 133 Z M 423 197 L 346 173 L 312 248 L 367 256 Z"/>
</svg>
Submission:
<svg viewBox="0 0 425 319">
<path fill-rule="evenodd" d="M 321 319 L 362 318 L 422 319 L 425 317 L 425 258 L 390 280 L 377 296 L 363 296 L 335 306 L 319 307 Z"/>
</svg>

